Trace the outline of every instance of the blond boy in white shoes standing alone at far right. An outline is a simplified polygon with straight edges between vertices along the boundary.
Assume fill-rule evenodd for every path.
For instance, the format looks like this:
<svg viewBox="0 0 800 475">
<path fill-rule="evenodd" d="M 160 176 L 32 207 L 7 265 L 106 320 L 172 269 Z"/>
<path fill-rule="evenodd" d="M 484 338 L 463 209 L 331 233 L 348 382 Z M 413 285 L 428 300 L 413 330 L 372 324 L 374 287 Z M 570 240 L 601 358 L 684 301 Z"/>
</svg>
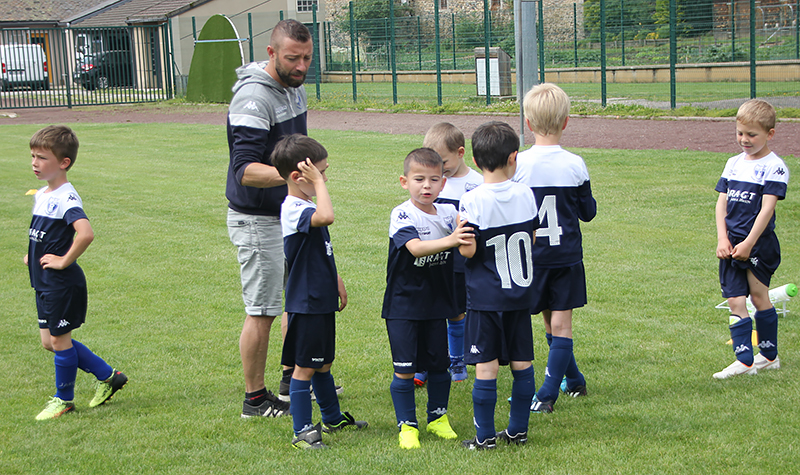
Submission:
<svg viewBox="0 0 800 475">
<path fill-rule="evenodd" d="M 736 113 L 736 140 L 742 153 L 728 159 L 715 188 L 717 258 L 722 296 L 731 309 L 730 330 L 736 361 L 716 379 L 780 369 L 778 314 L 769 300 L 769 282 L 781 262 L 775 235 L 775 206 L 786 198 L 789 169 L 769 149 L 775 109 L 762 100 L 745 102 Z M 753 322 L 747 295 L 756 308 L 758 347 L 753 356 Z"/>
</svg>

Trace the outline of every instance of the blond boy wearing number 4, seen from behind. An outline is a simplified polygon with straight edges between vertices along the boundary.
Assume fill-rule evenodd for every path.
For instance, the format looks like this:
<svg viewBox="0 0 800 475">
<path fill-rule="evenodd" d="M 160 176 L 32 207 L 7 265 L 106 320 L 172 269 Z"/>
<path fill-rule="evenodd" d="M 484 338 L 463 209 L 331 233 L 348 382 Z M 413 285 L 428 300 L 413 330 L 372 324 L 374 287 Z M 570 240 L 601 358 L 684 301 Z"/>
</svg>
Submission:
<svg viewBox="0 0 800 475">
<path fill-rule="evenodd" d="M 539 239 L 533 246 L 536 298 L 531 314 L 541 312 L 544 318 L 550 354 L 544 383 L 531 404 L 533 412 L 553 412 L 559 387 L 572 397 L 587 394 L 586 379 L 573 353 L 572 309 L 586 305 L 580 221 L 595 217 L 597 202 L 583 159 L 559 145 L 569 121 L 569 105 L 569 97 L 555 84 L 539 84 L 525 94 L 525 123 L 536 144 L 517 155 L 513 178 L 533 190 L 539 208 Z"/>
</svg>

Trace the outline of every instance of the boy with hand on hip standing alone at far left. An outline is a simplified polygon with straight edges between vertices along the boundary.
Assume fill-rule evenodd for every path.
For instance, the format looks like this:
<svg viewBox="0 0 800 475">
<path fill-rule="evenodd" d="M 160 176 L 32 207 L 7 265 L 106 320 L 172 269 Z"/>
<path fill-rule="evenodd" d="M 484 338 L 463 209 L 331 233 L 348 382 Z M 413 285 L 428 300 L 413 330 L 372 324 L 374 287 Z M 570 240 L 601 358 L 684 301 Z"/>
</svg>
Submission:
<svg viewBox="0 0 800 475">
<path fill-rule="evenodd" d="M 75 164 L 78 138 L 65 126 L 51 125 L 30 141 L 33 173 L 47 186 L 36 192 L 23 258 L 36 290 L 36 310 L 42 346 L 55 353 L 56 394 L 36 420 L 55 419 L 75 410 L 78 369 L 97 378 L 89 407 L 96 407 L 125 386 L 128 378 L 79 341 L 72 331 L 86 320 L 86 276 L 76 262 L 94 240 L 83 202 L 67 171 Z"/>
</svg>

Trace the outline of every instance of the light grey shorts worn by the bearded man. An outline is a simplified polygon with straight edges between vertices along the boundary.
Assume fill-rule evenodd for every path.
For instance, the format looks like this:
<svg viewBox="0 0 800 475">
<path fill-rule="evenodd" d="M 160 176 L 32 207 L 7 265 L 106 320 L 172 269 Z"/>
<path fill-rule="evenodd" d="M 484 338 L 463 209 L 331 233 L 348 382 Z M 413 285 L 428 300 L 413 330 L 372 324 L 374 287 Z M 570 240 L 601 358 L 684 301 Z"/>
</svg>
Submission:
<svg viewBox="0 0 800 475">
<path fill-rule="evenodd" d="M 228 236 L 239 249 L 245 313 L 278 316 L 285 284 L 281 220 L 228 209 Z"/>
</svg>

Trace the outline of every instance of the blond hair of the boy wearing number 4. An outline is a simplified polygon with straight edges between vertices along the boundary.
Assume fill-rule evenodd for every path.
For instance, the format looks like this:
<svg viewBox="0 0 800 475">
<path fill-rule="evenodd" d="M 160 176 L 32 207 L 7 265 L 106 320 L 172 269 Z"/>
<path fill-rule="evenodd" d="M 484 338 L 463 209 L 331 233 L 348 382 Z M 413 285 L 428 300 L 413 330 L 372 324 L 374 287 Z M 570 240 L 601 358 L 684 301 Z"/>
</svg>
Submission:
<svg viewBox="0 0 800 475">
<path fill-rule="evenodd" d="M 552 83 L 534 86 L 522 101 L 531 130 L 539 135 L 553 135 L 564 129 L 569 117 L 569 96 Z"/>
</svg>

